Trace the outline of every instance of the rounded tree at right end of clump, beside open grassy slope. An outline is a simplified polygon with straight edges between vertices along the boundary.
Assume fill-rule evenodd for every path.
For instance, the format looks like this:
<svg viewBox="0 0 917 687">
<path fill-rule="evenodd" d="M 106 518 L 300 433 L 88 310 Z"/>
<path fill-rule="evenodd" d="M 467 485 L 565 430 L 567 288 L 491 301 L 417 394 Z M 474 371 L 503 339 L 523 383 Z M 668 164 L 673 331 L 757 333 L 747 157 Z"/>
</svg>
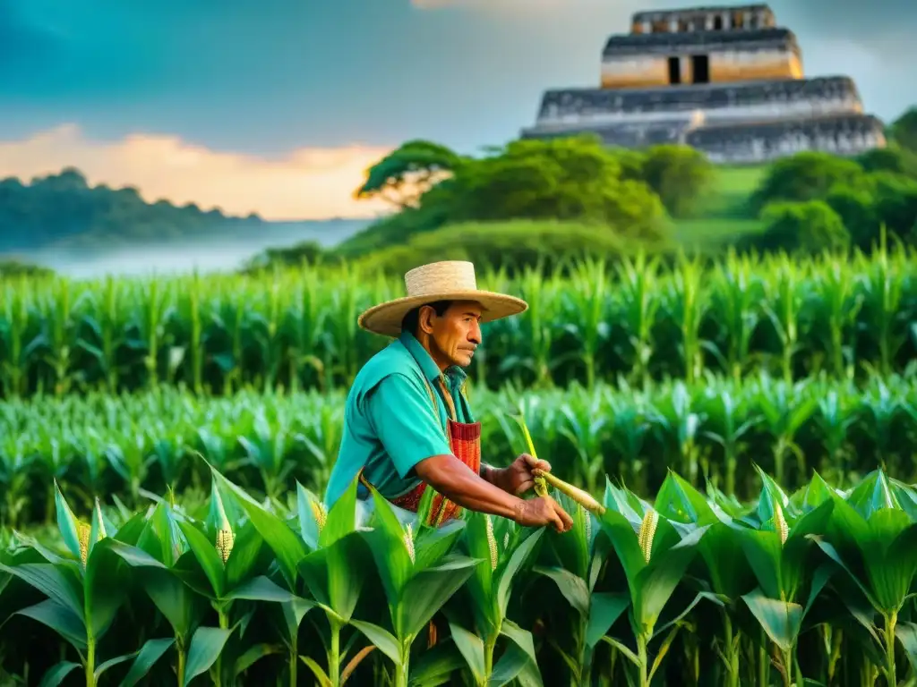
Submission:
<svg viewBox="0 0 917 687">
<path fill-rule="evenodd" d="M 674 217 L 697 210 L 714 174 L 713 163 L 689 146 L 651 147 L 643 162 L 643 179 Z"/>
</svg>

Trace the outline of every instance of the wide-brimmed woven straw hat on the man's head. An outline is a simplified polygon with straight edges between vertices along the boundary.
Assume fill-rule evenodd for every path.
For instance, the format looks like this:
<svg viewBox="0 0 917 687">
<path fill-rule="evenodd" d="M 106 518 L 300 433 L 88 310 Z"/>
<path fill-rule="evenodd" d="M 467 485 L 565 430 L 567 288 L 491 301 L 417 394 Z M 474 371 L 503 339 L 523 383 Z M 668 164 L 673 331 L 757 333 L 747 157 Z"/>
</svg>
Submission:
<svg viewBox="0 0 917 687">
<path fill-rule="evenodd" d="M 407 296 L 374 305 L 357 322 L 368 332 L 397 338 L 408 311 L 436 300 L 473 300 L 481 304 L 481 322 L 525 312 L 525 300 L 503 293 L 482 291 L 474 276 L 474 265 L 460 260 L 435 262 L 414 267 L 404 275 Z"/>
</svg>

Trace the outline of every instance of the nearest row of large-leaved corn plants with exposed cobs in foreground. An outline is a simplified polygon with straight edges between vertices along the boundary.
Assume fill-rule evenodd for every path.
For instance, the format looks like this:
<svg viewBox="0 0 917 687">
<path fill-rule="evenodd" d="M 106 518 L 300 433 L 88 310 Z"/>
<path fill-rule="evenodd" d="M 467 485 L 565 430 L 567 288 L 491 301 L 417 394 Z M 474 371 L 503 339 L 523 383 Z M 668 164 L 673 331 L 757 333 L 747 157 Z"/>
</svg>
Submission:
<svg viewBox="0 0 917 687">
<path fill-rule="evenodd" d="M 574 527 L 427 527 L 356 485 L 76 515 L 0 548 L 0 682 L 424 687 L 897 685 L 917 679 L 917 491 L 874 471 L 743 505 L 670 472 Z M 907 681 L 907 682 L 900 682 Z"/>
</svg>

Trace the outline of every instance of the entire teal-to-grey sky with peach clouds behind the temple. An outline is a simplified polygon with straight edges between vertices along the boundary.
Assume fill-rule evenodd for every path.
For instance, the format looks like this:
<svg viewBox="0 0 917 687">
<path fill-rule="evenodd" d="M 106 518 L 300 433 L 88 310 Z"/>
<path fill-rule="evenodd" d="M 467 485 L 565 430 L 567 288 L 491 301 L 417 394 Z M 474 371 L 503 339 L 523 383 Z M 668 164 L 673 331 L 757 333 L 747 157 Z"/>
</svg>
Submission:
<svg viewBox="0 0 917 687">
<path fill-rule="evenodd" d="M 153 202 L 360 217 L 412 138 L 473 154 L 599 81 L 635 11 L 676 0 L 0 0 L 0 178 L 73 166 Z M 729 5 L 705 2 L 704 5 Z M 889 121 L 917 104 L 917 2 L 774 0 L 807 75 Z"/>
</svg>

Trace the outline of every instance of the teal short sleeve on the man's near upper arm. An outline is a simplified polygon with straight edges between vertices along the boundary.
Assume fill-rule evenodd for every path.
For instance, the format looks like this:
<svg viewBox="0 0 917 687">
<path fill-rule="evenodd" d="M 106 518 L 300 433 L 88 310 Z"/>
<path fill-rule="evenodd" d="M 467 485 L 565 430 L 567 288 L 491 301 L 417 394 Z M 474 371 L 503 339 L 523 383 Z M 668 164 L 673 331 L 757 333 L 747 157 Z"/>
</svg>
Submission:
<svg viewBox="0 0 917 687">
<path fill-rule="evenodd" d="M 367 398 L 367 416 L 404 479 L 414 465 L 452 453 L 428 391 L 408 376 L 386 376 Z"/>
</svg>

